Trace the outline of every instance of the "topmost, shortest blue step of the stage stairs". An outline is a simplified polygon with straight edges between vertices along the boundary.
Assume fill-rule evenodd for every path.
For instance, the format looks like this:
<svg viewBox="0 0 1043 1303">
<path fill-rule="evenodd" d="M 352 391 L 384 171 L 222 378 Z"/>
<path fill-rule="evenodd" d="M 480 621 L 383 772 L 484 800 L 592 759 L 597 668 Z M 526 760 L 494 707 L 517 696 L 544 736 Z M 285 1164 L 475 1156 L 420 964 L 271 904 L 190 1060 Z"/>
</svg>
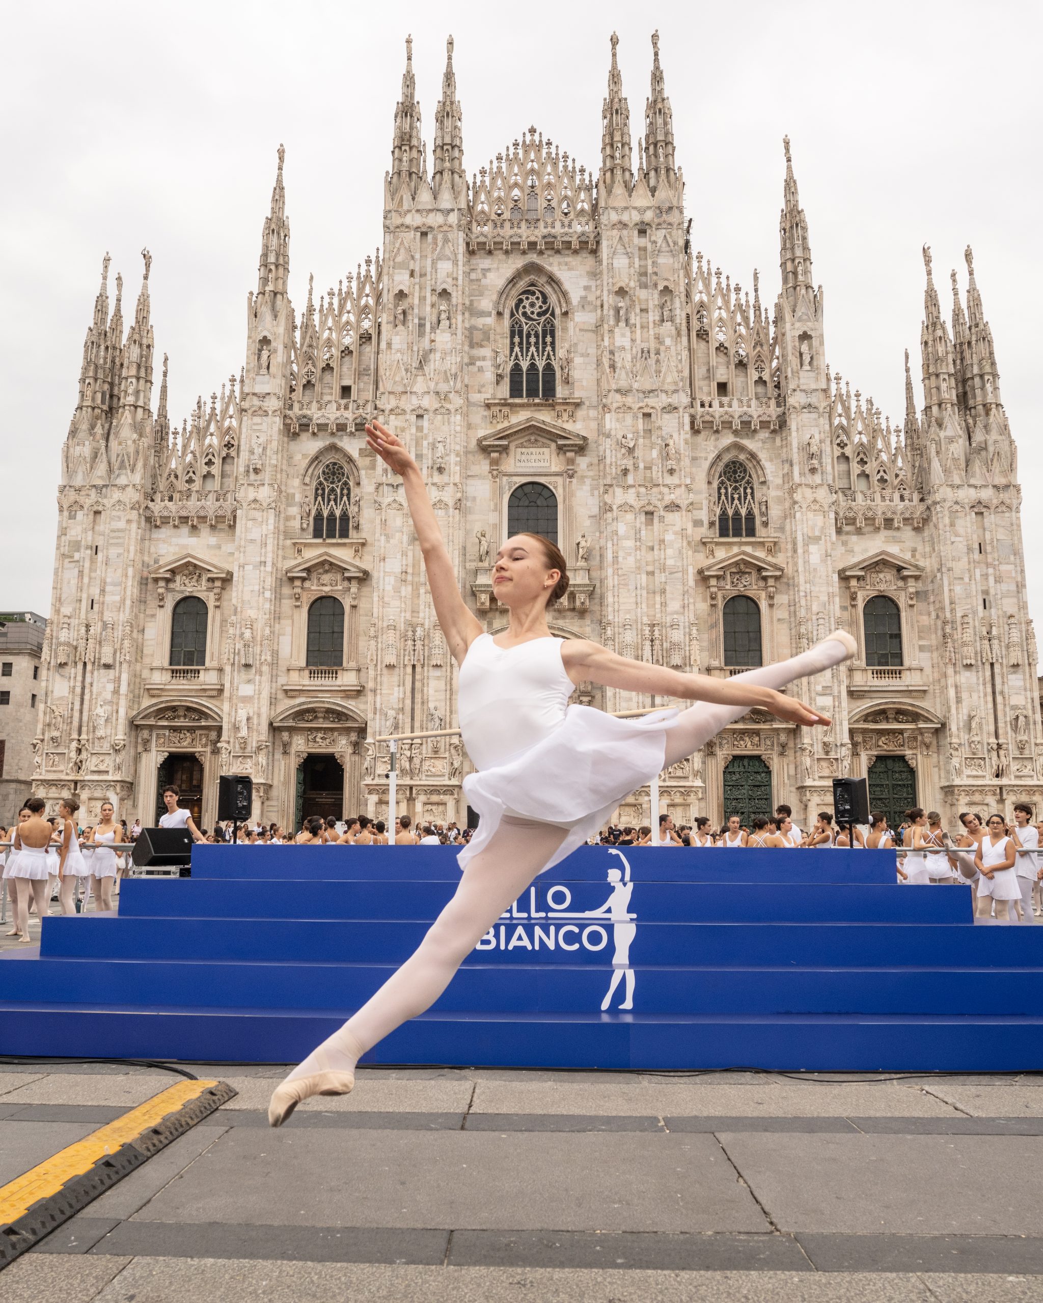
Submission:
<svg viewBox="0 0 1043 1303">
<path fill-rule="evenodd" d="M 451 846 L 211 846 L 192 853 L 193 878 L 370 878 L 459 882 Z M 772 851 L 626 847 L 640 882 L 862 882 L 893 886 L 889 851 Z M 601 846 L 581 846 L 548 874 L 551 882 L 605 881 L 619 857 Z"/>
</svg>

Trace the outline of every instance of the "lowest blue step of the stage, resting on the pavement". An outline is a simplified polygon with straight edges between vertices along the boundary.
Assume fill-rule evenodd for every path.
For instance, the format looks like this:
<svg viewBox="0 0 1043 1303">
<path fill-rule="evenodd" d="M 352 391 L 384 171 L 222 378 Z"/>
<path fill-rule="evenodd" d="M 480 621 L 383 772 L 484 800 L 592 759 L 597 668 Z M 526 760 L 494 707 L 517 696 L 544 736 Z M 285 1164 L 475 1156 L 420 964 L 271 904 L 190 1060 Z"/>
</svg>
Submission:
<svg viewBox="0 0 1043 1303">
<path fill-rule="evenodd" d="M 9 1054 L 288 1063 L 340 1024 L 314 1010 L 0 1003 Z M 60 1050 L 59 1050 L 60 1046 Z M 1043 1070 L 1043 1019 L 974 1015 L 425 1014 L 364 1063 L 790 1071 Z"/>
</svg>

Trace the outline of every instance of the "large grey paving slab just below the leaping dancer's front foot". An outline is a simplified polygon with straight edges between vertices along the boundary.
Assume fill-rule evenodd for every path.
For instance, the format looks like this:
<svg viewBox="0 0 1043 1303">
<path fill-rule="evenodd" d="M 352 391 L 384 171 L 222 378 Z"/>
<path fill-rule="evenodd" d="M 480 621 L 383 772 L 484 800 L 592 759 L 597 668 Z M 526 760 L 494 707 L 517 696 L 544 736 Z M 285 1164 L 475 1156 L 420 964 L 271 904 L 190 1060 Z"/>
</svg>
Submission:
<svg viewBox="0 0 1043 1303">
<path fill-rule="evenodd" d="M 229 1128 L 137 1220 L 768 1231 L 712 1136 L 318 1132 L 292 1123 Z"/>
</svg>

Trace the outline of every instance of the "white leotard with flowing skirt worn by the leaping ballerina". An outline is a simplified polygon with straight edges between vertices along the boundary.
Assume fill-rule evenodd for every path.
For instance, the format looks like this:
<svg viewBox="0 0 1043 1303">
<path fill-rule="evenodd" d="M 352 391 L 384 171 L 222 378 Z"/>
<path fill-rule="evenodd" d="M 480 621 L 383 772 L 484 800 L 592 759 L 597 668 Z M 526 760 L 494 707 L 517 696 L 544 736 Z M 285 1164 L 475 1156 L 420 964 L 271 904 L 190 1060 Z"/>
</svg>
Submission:
<svg viewBox="0 0 1043 1303">
<path fill-rule="evenodd" d="M 541 869 L 559 864 L 604 826 L 619 801 L 662 769 L 678 711 L 617 719 L 570 706 L 575 684 L 562 665 L 563 638 L 498 648 L 481 633 L 460 666 L 459 715 L 477 773 L 463 780 L 480 816 L 456 863 L 484 851 L 505 814 L 555 823 L 566 838 Z"/>
</svg>

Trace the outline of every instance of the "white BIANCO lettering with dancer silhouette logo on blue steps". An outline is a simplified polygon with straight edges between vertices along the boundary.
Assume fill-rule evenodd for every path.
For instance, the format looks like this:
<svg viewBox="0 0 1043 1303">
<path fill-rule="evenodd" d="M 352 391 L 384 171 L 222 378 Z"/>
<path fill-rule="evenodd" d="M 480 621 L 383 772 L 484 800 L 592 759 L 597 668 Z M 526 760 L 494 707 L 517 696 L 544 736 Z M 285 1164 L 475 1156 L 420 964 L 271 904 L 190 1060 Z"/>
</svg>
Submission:
<svg viewBox="0 0 1043 1303">
<path fill-rule="evenodd" d="M 630 946 L 638 933 L 634 920 L 638 917 L 630 912 L 630 898 L 634 893 L 631 882 L 630 861 L 622 851 L 609 847 L 610 855 L 618 855 L 623 861 L 623 868 L 610 868 L 608 881 L 611 886 L 609 899 L 597 909 L 575 909 L 572 907 L 572 891 L 561 882 L 544 889 L 536 885 L 529 887 L 528 899 L 519 896 L 510 909 L 499 916 L 499 923 L 494 924 L 475 946 L 476 950 L 541 950 L 576 951 L 605 950 L 609 945 L 606 926 L 591 923 L 581 926 L 583 919 L 604 919 L 611 924 L 613 958 L 611 981 L 608 993 L 601 1002 L 601 1011 L 606 1012 L 611 1005 L 613 995 L 619 982 L 626 977 L 623 986 L 623 1002 L 621 1010 L 634 1009 L 634 969 L 630 966 Z M 540 903 L 544 908 L 540 908 Z M 575 921 L 566 921 L 575 920 Z"/>
</svg>

